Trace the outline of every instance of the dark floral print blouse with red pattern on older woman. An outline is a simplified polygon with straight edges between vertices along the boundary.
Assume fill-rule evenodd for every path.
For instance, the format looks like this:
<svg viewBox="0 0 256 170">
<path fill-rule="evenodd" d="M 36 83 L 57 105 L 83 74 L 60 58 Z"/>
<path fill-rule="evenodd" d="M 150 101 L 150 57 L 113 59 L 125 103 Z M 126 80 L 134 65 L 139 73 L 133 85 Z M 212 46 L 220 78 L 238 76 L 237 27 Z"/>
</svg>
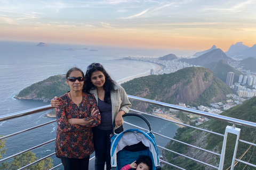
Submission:
<svg viewBox="0 0 256 170">
<path fill-rule="evenodd" d="M 57 139 L 55 152 L 57 157 L 82 159 L 90 156 L 94 151 L 92 127 L 100 124 L 100 114 L 97 101 L 93 95 L 83 92 L 82 102 L 78 106 L 65 94 L 58 98 L 61 104 L 55 108 L 57 118 Z M 91 110 L 97 113 L 91 116 Z M 68 123 L 69 118 L 83 118 L 93 121 L 82 126 Z"/>
</svg>

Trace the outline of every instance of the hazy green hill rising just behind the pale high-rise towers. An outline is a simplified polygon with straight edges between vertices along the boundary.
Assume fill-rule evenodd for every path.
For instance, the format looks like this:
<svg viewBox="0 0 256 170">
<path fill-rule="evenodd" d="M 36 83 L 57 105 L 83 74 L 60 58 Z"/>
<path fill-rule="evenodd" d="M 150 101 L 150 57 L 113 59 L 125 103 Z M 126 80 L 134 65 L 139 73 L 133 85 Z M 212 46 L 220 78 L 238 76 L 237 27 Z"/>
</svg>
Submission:
<svg viewBox="0 0 256 170">
<path fill-rule="evenodd" d="M 227 81 L 228 72 L 235 73 L 233 82 L 238 82 L 239 75 L 243 75 L 241 71 L 237 71 L 234 67 L 231 67 L 225 60 L 219 60 L 218 62 L 212 62 L 204 66 L 211 69 L 211 71 L 225 83 Z"/>
</svg>

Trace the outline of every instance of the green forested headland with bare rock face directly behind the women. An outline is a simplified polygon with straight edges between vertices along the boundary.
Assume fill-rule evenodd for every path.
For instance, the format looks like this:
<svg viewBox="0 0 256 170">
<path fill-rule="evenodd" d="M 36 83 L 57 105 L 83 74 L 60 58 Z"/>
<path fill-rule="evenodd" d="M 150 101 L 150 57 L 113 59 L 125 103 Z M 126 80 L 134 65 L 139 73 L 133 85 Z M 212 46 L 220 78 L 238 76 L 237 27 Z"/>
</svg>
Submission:
<svg viewBox="0 0 256 170">
<path fill-rule="evenodd" d="M 187 67 L 175 73 L 149 75 L 122 84 L 127 94 L 170 104 L 180 102 L 190 106 L 209 105 L 225 99 L 231 89 L 218 79 L 210 69 Z M 69 87 L 64 75 L 55 75 L 34 83 L 15 96 L 17 99 L 52 99 L 62 96 Z M 147 105 L 141 107 L 145 111 Z"/>
</svg>

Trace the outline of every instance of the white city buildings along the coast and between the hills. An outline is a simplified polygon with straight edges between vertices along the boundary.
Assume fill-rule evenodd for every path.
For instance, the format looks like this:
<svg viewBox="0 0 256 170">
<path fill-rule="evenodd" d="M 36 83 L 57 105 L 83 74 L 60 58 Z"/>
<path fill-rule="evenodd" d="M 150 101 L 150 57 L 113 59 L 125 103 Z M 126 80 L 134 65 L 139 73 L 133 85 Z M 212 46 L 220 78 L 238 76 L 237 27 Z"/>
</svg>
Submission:
<svg viewBox="0 0 256 170">
<path fill-rule="evenodd" d="M 174 73 L 180 69 L 184 69 L 185 67 L 202 67 L 200 65 L 190 65 L 186 62 L 180 62 L 179 59 L 174 59 L 171 61 L 165 61 L 165 60 L 159 60 L 158 58 L 153 57 L 125 57 L 125 60 L 137 60 L 137 61 L 143 61 L 143 62 L 150 62 L 159 64 L 162 66 L 162 69 L 155 71 L 154 69 L 150 70 L 150 74 L 169 74 Z M 233 65 L 235 67 L 235 65 Z M 240 75 L 238 82 L 233 83 L 234 81 L 234 73 L 228 72 L 227 74 L 227 81 L 226 84 L 236 92 L 236 94 L 228 94 L 226 96 L 225 102 L 218 102 L 218 103 L 211 103 L 209 106 L 198 106 L 191 107 L 186 105 L 185 103 L 179 103 L 178 106 L 181 107 L 187 107 L 191 109 L 198 109 L 199 111 L 213 113 L 213 114 L 220 114 L 227 109 L 242 104 L 243 101 L 248 100 L 254 96 L 256 96 L 256 73 L 251 72 L 248 70 L 242 70 L 239 67 L 235 67 L 236 70 L 241 71 L 245 75 Z M 157 108 L 153 111 L 155 114 L 169 114 L 171 116 L 172 113 L 175 113 L 177 111 L 170 109 L 170 111 L 166 111 L 164 108 Z M 209 121 L 209 118 L 206 117 L 196 117 L 194 118 L 192 114 L 188 114 L 188 117 L 190 117 L 190 122 L 195 122 L 195 125 L 202 124 L 206 121 Z"/>
</svg>

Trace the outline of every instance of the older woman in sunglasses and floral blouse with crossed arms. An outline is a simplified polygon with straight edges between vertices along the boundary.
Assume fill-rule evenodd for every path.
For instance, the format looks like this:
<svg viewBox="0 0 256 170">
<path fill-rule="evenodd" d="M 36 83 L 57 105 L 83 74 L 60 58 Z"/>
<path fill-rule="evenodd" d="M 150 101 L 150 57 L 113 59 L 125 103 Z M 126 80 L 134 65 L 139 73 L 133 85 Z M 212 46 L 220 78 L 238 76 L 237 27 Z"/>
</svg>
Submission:
<svg viewBox="0 0 256 170">
<path fill-rule="evenodd" d="M 58 98 L 55 152 L 65 170 L 88 169 L 94 151 L 92 127 L 100 124 L 100 113 L 94 96 L 82 92 L 82 70 L 73 67 L 66 79 L 70 91 Z"/>
</svg>

